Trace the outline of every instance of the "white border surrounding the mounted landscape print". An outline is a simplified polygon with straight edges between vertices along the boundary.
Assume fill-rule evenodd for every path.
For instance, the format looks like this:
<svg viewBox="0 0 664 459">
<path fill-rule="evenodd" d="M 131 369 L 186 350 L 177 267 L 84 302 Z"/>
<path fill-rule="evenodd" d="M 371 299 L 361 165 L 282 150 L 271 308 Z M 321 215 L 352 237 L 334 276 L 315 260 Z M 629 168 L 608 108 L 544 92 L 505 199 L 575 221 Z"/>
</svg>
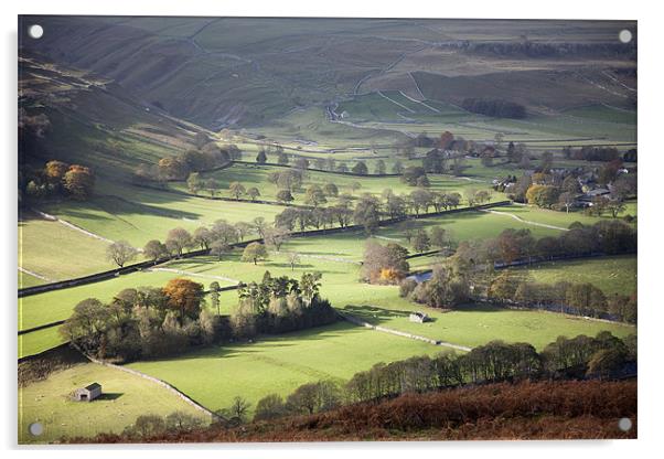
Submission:
<svg viewBox="0 0 664 459">
<path fill-rule="evenodd" d="M 381 17 L 381 18 L 505 18 L 505 19 L 623 19 L 639 21 L 639 147 L 641 150 L 641 179 L 640 179 L 640 254 L 639 254 L 639 289 L 640 289 L 640 318 L 639 318 L 639 345 L 640 345 L 640 380 L 639 380 L 639 440 L 635 441 L 528 441 L 528 442 L 446 442 L 446 444 L 326 444 L 326 445 L 214 445 L 214 446 L 171 446 L 168 451 L 159 451 L 165 458 L 186 455 L 185 450 L 195 450 L 196 455 L 215 457 L 257 457 L 270 458 L 296 457 L 361 457 L 367 453 L 379 453 L 382 457 L 403 458 L 405 453 L 414 451 L 422 456 L 463 456 L 475 455 L 493 458 L 559 458 L 560 456 L 583 457 L 639 457 L 649 455 L 662 444 L 664 435 L 660 433 L 663 425 L 660 408 L 662 408 L 662 355 L 660 349 L 664 345 L 658 339 L 664 323 L 662 310 L 663 301 L 660 300 L 657 286 L 662 284 L 662 212 L 657 209 L 662 193 L 662 171 L 664 171 L 662 148 L 662 17 L 658 14 L 655 2 L 645 6 L 645 2 L 625 1 L 578 1 L 557 0 L 555 2 L 534 1 L 420 1 L 408 0 L 403 2 L 388 2 L 379 0 L 333 0 L 333 1 L 257 1 L 245 0 L 242 2 L 186 0 L 165 4 L 165 2 L 114 0 L 111 2 L 94 2 L 77 0 L 23 0 L 19 4 L 2 3 L 2 32 L 3 45 L 0 49 L 2 58 L 2 120 L 3 154 L 3 193 L 2 213 L 4 217 L 2 293 L 4 301 L 2 309 L 4 320 L 4 349 L 2 352 L 6 363 L 4 372 L 0 378 L 2 395 L 2 445 L 15 450 L 15 237 L 17 237 L 17 14 L 142 14 L 142 15 L 306 15 L 306 17 Z M 115 450 L 120 448 L 121 451 Z M 117 457 L 137 451 L 153 451 L 156 447 L 114 447 L 90 448 L 71 447 L 58 449 L 32 449 L 20 451 L 22 456 L 32 457 L 49 455 L 51 458 L 72 457 L 84 453 L 95 457 Z M 90 451 L 89 449 L 94 449 Z M 661 451 L 660 451 L 661 455 Z M 650 455 L 649 455 L 650 456 Z"/>
</svg>

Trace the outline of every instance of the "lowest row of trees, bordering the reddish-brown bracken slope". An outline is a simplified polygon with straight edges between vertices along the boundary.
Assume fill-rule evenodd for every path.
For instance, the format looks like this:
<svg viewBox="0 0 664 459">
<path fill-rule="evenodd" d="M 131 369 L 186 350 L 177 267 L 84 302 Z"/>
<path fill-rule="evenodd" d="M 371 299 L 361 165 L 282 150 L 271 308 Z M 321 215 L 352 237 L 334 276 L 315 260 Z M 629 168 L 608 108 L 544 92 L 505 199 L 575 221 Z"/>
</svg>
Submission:
<svg viewBox="0 0 664 459">
<path fill-rule="evenodd" d="M 558 338 L 544 351 L 527 343 L 492 341 L 462 355 L 441 353 L 377 363 L 345 384 L 320 381 L 301 385 L 286 398 L 270 394 L 257 405 L 254 420 L 310 415 L 354 403 L 379 402 L 463 384 L 548 378 L 619 377 L 636 360 L 636 337 L 621 340 L 610 332 L 597 337 Z"/>
</svg>

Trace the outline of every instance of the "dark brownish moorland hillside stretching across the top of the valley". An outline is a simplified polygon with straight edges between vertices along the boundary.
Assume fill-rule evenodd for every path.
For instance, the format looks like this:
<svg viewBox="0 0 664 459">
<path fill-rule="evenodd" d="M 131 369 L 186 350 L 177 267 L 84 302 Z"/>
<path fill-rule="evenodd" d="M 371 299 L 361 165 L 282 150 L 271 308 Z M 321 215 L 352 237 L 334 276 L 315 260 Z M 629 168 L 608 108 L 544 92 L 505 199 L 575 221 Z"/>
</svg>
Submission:
<svg viewBox="0 0 664 459">
<path fill-rule="evenodd" d="M 111 78 L 213 129 L 269 125 L 297 108 L 374 90 L 459 103 L 514 97 L 535 114 L 632 108 L 635 45 L 611 21 L 25 17 L 24 47 Z M 297 72 L 293 71 L 297 68 Z M 545 98 L 513 88 L 546 87 Z M 579 97 L 580 95 L 580 97 Z"/>
</svg>

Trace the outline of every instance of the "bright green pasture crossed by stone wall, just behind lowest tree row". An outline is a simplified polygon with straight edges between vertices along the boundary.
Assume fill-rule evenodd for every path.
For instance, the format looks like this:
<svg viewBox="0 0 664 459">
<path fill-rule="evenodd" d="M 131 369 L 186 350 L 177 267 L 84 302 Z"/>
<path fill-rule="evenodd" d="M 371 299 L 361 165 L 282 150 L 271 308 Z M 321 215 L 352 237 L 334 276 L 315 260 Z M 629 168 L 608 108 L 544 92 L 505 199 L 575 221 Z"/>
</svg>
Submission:
<svg viewBox="0 0 664 459">
<path fill-rule="evenodd" d="M 393 306 L 395 298 L 387 302 Z M 532 342 L 542 350 L 560 334 L 595 335 L 601 330 L 610 330 L 624 337 L 634 332 L 631 327 L 607 325 L 555 313 L 484 307 L 448 313 L 427 310 L 435 322 L 417 324 L 408 321 L 408 313 L 422 308 L 405 308 L 408 309 L 365 306 L 360 312 L 354 307 L 345 310 L 384 327 L 471 346 L 500 339 Z M 340 322 L 322 329 L 265 337 L 255 343 L 213 346 L 170 360 L 137 362 L 129 366 L 168 381 L 207 408 L 218 409 L 227 407 L 237 395 L 255 406 L 265 395 L 287 395 L 307 382 L 343 381 L 377 362 L 435 354 L 445 349 Z"/>
</svg>

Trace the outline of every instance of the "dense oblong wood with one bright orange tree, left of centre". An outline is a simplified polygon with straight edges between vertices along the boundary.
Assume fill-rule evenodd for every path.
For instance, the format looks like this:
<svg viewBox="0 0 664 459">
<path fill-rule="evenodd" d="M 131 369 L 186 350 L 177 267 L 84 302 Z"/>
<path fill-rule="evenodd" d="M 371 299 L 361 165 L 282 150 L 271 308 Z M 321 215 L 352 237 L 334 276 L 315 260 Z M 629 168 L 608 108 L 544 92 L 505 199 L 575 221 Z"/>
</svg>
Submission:
<svg viewBox="0 0 664 459">
<path fill-rule="evenodd" d="M 304 273 L 300 280 L 272 277 L 240 285 L 233 313 L 221 314 L 219 286 L 174 278 L 162 287 L 128 288 L 104 303 L 88 298 L 76 305 L 60 333 L 85 353 L 120 362 L 175 355 L 186 350 L 329 324 L 334 309 L 320 297 L 321 274 Z"/>
</svg>

